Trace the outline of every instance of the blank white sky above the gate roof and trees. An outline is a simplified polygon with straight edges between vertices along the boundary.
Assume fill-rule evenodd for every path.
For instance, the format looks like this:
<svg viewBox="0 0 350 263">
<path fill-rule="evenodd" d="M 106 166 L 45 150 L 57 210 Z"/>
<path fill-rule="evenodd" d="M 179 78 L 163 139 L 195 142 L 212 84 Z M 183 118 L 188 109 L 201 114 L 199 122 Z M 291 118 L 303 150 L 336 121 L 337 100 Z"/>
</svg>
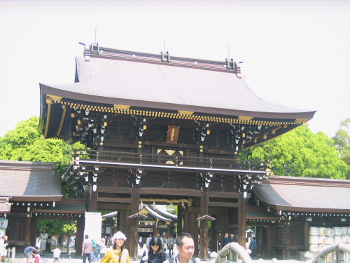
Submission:
<svg viewBox="0 0 350 263">
<path fill-rule="evenodd" d="M 260 97 L 317 110 L 335 135 L 350 117 L 350 1 L 0 1 L 0 137 L 39 116 L 39 83 L 72 83 L 85 43 L 243 61 Z"/>
</svg>

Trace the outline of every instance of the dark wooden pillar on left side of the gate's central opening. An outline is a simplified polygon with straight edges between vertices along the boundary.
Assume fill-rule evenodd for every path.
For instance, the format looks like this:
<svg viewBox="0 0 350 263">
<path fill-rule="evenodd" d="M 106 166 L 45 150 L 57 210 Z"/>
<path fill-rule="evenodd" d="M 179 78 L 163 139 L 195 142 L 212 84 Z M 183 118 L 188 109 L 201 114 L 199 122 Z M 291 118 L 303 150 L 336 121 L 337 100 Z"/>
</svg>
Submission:
<svg viewBox="0 0 350 263">
<path fill-rule="evenodd" d="M 135 187 L 132 189 L 132 207 L 131 214 L 139 213 L 140 189 Z M 130 259 L 137 259 L 137 248 L 139 244 L 139 219 L 134 217 L 130 220 Z"/>
</svg>

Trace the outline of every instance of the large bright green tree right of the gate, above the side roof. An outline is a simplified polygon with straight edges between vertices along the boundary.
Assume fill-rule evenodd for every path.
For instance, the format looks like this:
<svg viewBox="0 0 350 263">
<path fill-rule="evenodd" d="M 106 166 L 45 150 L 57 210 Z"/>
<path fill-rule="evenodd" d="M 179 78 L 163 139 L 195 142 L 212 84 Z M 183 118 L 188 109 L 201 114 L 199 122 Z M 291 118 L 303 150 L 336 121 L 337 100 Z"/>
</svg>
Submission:
<svg viewBox="0 0 350 263">
<path fill-rule="evenodd" d="M 304 126 L 242 151 L 241 159 L 248 154 L 253 160 L 272 161 L 275 175 L 345 179 L 348 169 L 327 135 Z"/>
</svg>

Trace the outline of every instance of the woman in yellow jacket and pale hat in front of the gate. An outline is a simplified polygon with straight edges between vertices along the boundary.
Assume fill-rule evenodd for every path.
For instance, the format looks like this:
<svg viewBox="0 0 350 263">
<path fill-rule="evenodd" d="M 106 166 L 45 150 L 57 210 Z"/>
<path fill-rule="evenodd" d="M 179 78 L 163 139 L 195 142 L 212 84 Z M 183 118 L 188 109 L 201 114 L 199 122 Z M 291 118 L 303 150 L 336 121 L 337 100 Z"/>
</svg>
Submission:
<svg viewBox="0 0 350 263">
<path fill-rule="evenodd" d="M 127 237 L 122 232 L 118 231 L 113 236 L 113 249 L 108 249 L 101 263 L 130 263 L 129 251 L 123 248 L 124 241 Z"/>
</svg>

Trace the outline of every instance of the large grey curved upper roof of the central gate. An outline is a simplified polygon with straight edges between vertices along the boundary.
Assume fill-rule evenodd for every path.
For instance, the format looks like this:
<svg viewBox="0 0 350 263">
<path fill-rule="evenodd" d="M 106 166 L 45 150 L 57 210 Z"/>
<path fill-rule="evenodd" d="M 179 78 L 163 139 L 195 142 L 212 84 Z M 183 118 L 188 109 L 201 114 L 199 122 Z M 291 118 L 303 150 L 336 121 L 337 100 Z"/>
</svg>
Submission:
<svg viewBox="0 0 350 263">
<path fill-rule="evenodd" d="M 228 116 L 309 120 L 315 113 L 263 100 L 245 79 L 223 70 L 94 54 L 89 61 L 76 58 L 76 76 L 77 83 L 41 84 L 42 91 L 87 102 Z"/>
</svg>

